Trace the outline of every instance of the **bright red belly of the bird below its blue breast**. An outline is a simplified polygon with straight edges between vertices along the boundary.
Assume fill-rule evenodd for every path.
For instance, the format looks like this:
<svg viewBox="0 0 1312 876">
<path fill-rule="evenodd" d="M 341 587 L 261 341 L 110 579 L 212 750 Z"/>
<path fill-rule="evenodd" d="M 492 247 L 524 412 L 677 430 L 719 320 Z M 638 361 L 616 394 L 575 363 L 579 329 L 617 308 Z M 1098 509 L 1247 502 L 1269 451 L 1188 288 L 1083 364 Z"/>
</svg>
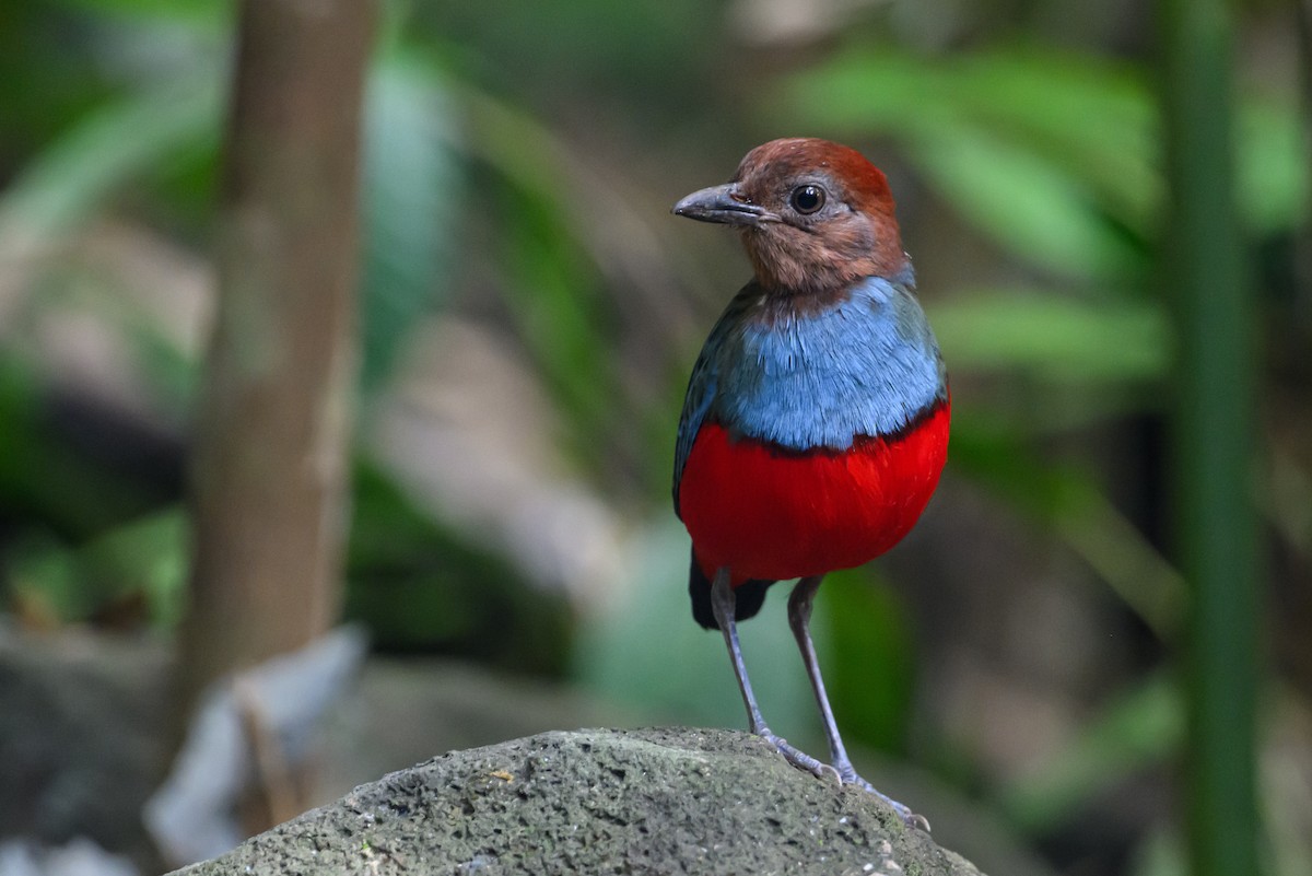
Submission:
<svg viewBox="0 0 1312 876">
<path fill-rule="evenodd" d="M 947 460 L 949 404 L 892 438 L 795 452 L 703 426 L 680 481 L 680 514 L 706 577 L 733 586 L 848 569 L 916 525 Z"/>
</svg>

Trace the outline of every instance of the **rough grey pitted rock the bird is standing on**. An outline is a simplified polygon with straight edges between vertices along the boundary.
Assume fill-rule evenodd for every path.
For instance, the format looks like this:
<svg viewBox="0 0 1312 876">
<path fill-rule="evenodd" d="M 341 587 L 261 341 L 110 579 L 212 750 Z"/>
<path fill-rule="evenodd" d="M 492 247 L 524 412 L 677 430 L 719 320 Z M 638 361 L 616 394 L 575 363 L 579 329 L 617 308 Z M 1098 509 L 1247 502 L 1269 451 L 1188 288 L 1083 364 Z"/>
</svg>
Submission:
<svg viewBox="0 0 1312 876">
<path fill-rule="evenodd" d="M 361 786 L 178 876 L 977 875 L 882 800 L 731 730 L 552 732 Z"/>
</svg>

